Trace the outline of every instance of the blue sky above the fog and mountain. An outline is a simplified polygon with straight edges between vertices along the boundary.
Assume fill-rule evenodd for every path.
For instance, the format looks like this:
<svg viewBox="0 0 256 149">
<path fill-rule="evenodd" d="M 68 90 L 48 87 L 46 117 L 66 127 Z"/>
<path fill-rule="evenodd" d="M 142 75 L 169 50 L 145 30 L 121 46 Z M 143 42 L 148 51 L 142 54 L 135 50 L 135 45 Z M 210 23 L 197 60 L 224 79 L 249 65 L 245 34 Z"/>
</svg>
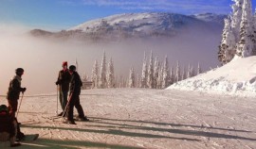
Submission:
<svg viewBox="0 0 256 149">
<path fill-rule="evenodd" d="M 254 9 L 255 0 L 252 3 Z M 1 0 L 0 23 L 60 30 L 118 13 L 228 14 L 231 4 L 231 0 Z"/>
</svg>

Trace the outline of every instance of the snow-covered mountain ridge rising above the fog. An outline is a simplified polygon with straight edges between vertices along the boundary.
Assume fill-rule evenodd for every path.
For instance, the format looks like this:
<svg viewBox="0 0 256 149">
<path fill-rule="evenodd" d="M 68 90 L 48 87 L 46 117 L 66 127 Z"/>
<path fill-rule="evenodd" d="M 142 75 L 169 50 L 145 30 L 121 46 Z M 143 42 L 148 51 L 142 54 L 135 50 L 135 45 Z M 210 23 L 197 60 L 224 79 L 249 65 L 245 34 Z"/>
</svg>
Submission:
<svg viewBox="0 0 256 149">
<path fill-rule="evenodd" d="M 192 16 L 174 13 L 124 13 L 88 21 L 57 33 L 49 34 L 44 30 L 34 29 L 31 34 L 82 40 L 174 37 L 183 34 L 185 30 L 221 30 L 225 17 L 212 13 Z"/>
</svg>

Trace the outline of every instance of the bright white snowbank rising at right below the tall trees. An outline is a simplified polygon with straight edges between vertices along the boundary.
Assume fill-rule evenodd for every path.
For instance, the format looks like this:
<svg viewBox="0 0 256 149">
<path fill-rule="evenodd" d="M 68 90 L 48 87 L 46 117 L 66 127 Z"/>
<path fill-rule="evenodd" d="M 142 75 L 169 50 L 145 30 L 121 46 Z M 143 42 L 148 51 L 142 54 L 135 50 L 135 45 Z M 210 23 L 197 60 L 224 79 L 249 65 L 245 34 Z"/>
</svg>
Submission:
<svg viewBox="0 0 256 149">
<path fill-rule="evenodd" d="M 256 95 L 256 57 L 238 58 L 205 74 L 180 81 L 167 90 Z"/>
</svg>

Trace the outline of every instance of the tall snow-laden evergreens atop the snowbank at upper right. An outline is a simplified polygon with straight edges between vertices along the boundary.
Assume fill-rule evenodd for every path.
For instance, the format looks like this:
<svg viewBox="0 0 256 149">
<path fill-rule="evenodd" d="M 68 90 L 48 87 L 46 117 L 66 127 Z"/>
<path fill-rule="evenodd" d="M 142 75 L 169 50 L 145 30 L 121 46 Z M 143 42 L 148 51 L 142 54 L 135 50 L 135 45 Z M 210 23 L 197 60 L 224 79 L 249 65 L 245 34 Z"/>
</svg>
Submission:
<svg viewBox="0 0 256 149">
<path fill-rule="evenodd" d="M 251 0 L 233 2 L 219 45 L 218 58 L 222 64 L 256 55 L 256 11 L 253 13 Z"/>
</svg>

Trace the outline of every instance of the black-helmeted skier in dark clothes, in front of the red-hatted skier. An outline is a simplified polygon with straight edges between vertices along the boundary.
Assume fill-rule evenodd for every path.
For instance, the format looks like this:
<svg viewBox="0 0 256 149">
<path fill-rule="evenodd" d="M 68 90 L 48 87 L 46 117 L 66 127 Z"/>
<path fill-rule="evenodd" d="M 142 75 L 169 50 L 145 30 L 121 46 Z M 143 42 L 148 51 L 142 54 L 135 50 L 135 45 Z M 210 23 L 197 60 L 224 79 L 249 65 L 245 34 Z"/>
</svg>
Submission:
<svg viewBox="0 0 256 149">
<path fill-rule="evenodd" d="M 80 75 L 76 72 L 76 66 L 71 65 L 69 67 L 69 74 L 71 75 L 70 89 L 69 89 L 69 100 L 67 104 L 66 114 L 67 120 L 64 124 L 76 124 L 74 121 L 74 107 L 78 110 L 78 120 L 79 121 L 89 121 L 86 116 L 84 116 L 82 106 L 80 104 L 80 93 L 82 87 L 82 80 Z"/>
</svg>

